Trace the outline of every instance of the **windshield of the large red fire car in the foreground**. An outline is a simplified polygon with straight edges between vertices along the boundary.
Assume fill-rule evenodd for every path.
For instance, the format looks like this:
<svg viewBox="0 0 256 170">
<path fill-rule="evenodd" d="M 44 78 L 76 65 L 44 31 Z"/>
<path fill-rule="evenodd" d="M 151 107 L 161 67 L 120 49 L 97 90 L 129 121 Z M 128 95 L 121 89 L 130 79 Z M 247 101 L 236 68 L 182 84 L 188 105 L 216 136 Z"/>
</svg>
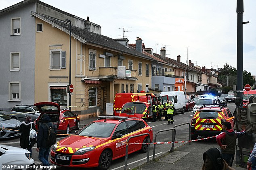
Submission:
<svg viewBox="0 0 256 170">
<path fill-rule="evenodd" d="M 90 137 L 110 137 L 115 125 L 115 123 L 92 122 L 84 127 L 84 129 L 79 131 L 77 135 Z"/>
</svg>

